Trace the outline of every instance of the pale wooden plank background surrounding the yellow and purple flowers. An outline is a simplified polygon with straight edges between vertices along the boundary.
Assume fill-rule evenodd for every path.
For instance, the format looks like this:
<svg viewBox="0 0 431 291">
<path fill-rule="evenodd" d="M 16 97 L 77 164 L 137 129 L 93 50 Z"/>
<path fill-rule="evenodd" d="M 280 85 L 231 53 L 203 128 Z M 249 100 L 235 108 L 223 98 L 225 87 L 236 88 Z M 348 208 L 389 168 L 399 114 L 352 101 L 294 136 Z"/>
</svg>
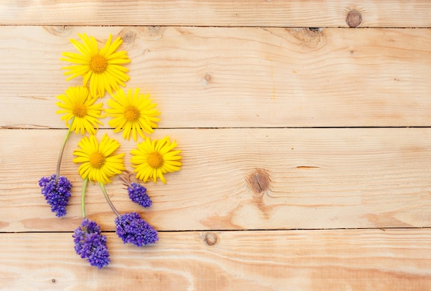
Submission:
<svg viewBox="0 0 431 291">
<path fill-rule="evenodd" d="M 0 289 L 430 290 L 430 12 L 419 0 L 0 1 Z M 183 156 L 166 185 L 147 184 L 149 210 L 119 179 L 107 186 L 160 231 L 156 245 L 123 245 L 89 184 L 102 270 L 71 237 L 80 136 L 61 168 L 67 217 L 37 185 L 66 132 L 56 95 L 81 82 L 65 82 L 61 52 L 83 32 L 123 37 L 127 88 L 151 94 L 152 137 Z"/>
</svg>

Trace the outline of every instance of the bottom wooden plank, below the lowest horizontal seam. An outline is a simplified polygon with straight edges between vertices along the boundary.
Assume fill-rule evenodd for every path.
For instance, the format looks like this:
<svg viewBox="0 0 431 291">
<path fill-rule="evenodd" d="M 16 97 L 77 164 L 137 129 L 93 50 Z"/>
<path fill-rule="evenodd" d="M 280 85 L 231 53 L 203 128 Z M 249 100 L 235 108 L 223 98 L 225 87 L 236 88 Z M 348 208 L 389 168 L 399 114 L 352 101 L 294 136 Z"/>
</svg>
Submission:
<svg viewBox="0 0 431 291">
<path fill-rule="evenodd" d="M 70 233 L 0 234 L 3 290 L 428 290 L 431 230 L 162 232 L 156 245 L 108 233 L 101 270 Z M 414 241 L 414 243 L 412 243 Z M 31 259 L 29 259 L 31 258 Z"/>
</svg>

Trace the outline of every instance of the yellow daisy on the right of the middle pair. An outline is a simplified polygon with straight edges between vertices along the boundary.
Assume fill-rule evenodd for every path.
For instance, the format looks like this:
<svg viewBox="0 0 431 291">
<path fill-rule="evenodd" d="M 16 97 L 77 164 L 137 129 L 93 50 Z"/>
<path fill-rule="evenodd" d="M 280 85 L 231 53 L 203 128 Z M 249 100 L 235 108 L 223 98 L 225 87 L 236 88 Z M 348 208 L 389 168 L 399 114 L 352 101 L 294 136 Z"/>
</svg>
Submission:
<svg viewBox="0 0 431 291">
<path fill-rule="evenodd" d="M 134 141 L 138 140 L 136 132 L 145 139 L 143 130 L 148 134 L 154 132 L 153 128 L 157 128 L 156 122 L 160 121 L 156 117 L 160 115 L 156 109 L 157 104 L 151 101 L 149 94 L 139 94 L 138 88 L 133 94 L 132 89 L 129 89 L 127 96 L 119 89 L 112 95 L 112 99 L 107 101 L 110 107 L 106 110 L 107 116 L 114 117 L 108 121 L 109 126 L 115 128 L 114 132 L 124 130 L 123 139 L 129 140 L 131 131 Z"/>
</svg>

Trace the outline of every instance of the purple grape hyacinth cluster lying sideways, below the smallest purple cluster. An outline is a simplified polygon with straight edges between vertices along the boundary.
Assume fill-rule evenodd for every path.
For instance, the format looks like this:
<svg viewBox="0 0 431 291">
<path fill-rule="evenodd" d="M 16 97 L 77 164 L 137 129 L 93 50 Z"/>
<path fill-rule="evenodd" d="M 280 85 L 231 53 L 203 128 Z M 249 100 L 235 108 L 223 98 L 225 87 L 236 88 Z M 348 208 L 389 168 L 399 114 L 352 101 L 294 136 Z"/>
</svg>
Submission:
<svg viewBox="0 0 431 291">
<path fill-rule="evenodd" d="M 136 212 L 130 212 L 115 219 L 116 234 L 123 243 L 133 243 L 138 247 L 158 241 L 157 230 Z"/>
</svg>

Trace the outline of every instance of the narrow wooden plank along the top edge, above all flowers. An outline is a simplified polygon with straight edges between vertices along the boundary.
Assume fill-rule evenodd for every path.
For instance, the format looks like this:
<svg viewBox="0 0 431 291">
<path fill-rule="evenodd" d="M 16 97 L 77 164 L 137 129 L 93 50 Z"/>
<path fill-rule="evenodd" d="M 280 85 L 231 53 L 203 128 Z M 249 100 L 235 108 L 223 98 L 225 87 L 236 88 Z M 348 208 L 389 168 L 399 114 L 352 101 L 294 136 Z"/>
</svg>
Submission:
<svg viewBox="0 0 431 291">
<path fill-rule="evenodd" d="M 430 27 L 430 1 L 3 1 L 1 25 Z"/>
</svg>

